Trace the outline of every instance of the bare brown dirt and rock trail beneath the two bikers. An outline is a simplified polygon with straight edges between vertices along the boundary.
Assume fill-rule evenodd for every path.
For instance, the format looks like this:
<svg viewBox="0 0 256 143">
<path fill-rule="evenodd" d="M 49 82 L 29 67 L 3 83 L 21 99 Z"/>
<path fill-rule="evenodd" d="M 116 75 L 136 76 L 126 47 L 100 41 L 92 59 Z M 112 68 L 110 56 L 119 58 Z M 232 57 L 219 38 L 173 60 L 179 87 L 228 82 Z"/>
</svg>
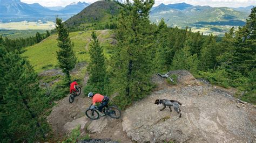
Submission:
<svg viewBox="0 0 256 143">
<path fill-rule="evenodd" d="M 89 75 L 84 76 L 83 86 L 86 85 Z M 69 103 L 69 95 L 60 100 L 52 108 L 48 121 L 52 127 L 55 137 L 62 139 L 78 124 L 82 125 L 82 134 L 89 134 L 92 139 L 111 139 L 119 142 L 131 142 L 123 131 L 122 118 L 111 119 L 100 117 L 99 120 L 90 120 L 85 116 L 85 110 L 91 105 L 91 99 L 83 95 L 83 92 L 75 101 Z M 104 125 L 103 125 L 104 124 Z M 88 128 L 86 128 L 88 127 Z M 93 131 L 97 130 L 97 133 Z"/>
</svg>

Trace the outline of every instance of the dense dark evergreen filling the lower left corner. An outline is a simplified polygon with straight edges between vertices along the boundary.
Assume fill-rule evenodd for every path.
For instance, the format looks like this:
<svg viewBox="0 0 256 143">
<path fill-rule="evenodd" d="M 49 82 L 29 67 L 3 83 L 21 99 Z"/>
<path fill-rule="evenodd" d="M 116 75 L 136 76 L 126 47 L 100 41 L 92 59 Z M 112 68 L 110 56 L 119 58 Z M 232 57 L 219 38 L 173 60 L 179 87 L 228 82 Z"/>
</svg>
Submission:
<svg viewBox="0 0 256 143">
<path fill-rule="evenodd" d="M 0 102 L 1 139 L 3 142 L 43 141 L 49 126 L 44 119 L 39 119 L 47 104 L 38 87 L 37 75 L 18 52 L 4 53 L 0 66 L 4 74 Z"/>
</svg>

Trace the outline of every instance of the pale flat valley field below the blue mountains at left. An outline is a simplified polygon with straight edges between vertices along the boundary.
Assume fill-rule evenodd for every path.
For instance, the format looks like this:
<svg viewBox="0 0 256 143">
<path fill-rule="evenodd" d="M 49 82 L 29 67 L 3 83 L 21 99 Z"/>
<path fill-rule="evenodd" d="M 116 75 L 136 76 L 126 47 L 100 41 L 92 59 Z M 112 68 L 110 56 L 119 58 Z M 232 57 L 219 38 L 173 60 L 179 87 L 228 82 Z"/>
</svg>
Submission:
<svg viewBox="0 0 256 143">
<path fill-rule="evenodd" d="M 52 30 L 55 28 L 54 22 L 12 22 L 12 23 L 0 23 L 0 29 L 6 30 Z"/>
</svg>

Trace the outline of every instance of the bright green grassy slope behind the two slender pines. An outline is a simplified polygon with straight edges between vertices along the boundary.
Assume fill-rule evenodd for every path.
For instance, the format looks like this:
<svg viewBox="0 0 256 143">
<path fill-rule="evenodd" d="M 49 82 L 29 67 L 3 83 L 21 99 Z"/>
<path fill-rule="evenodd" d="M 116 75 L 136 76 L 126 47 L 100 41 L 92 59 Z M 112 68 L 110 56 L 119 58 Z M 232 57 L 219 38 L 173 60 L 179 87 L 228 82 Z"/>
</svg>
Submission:
<svg viewBox="0 0 256 143">
<path fill-rule="evenodd" d="M 111 35 L 113 31 L 104 30 L 96 31 L 100 42 L 104 48 L 104 53 L 108 56 L 111 50 L 112 41 Z M 71 32 L 70 39 L 74 43 L 74 51 L 78 61 L 89 61 L 88 48 L 90 47 L 91 31 L 87 32 Z M 57 35 L 51 35 L 42 42 L 25 48 L 23 56 L 28 57 L 31 65 L 37 72 L 41 72 L 45 69 L 51 69 L 57 67 Z"/>
</svg>

